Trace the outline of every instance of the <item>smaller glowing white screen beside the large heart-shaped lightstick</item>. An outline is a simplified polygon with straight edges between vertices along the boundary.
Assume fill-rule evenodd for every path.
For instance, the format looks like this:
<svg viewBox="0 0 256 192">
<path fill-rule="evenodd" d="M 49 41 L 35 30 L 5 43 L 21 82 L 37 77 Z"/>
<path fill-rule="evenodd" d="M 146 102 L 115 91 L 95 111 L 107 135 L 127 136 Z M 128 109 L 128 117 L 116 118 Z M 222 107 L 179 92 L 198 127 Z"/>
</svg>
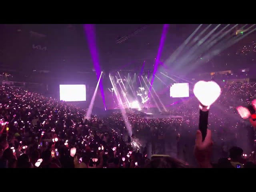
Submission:
<svg viewBox="0 0 256 192">
<path fill-rule="evenodd" d="M 170 97 L 189 97 L 188 83 L 174 83 L 170 87 Z"/>
</svg>

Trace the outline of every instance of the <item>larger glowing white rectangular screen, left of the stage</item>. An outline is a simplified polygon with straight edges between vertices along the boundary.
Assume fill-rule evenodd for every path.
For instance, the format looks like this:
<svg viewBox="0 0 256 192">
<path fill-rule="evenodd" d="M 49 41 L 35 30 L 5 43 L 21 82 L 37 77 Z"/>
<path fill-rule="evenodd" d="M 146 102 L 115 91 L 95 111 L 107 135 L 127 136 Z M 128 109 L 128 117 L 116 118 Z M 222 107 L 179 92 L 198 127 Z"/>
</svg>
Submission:
<svg viewBox="0 0 256 192">
<path fill-rule="evenodd" d="M 85 85 L 60 85 L 60 100 L 86 101 Z"/>
</svg>

